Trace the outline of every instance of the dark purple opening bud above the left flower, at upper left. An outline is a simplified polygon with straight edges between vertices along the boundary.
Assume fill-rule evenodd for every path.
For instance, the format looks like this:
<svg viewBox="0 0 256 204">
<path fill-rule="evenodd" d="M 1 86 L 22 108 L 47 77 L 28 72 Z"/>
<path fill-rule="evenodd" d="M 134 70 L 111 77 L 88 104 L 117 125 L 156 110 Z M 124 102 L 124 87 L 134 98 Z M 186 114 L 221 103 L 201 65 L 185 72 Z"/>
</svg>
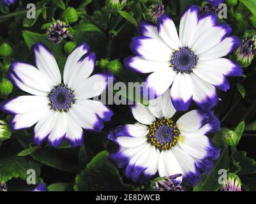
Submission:
<svg viewBox="0 0 256 204">
<path fill-rule="evenodd" d="M 70 25 L 65 24 L 61 20 L 57 20 L 57 22 L 50 24 L 50 27 L 47 31 L 49 40 L 52 41 L 54 45 L 58 45 L 63 40 L 63 38 L 72 39 L 73 36 L 68 31 L 68 27 L 70 27 Z"/>
</svg>

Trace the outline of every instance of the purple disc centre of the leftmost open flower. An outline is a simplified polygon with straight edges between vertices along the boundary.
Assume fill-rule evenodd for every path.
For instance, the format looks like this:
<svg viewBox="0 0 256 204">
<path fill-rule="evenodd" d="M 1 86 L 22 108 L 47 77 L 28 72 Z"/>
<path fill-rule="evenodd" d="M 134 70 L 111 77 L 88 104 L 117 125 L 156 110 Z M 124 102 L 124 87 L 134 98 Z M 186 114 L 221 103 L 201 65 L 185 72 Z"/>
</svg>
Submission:
<svg viewBox="0 0 256 204">
<path fill-rule="evenodd" d="M 54 87 L 48 97 L 49 105 L 57 112 L 68 112 L 73 103 L 75 103 L 73 91 L 64 84 Z"/>
</svg>

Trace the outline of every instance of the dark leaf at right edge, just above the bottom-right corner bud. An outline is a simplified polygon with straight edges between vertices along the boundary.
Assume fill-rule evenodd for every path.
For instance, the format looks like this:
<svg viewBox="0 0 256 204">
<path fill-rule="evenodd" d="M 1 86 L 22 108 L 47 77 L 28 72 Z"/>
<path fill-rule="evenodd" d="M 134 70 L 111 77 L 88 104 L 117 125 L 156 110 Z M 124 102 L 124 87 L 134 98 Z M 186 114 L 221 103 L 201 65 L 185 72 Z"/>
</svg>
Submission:
<svg viewBox="0 0 256 204">
<path fill-rule="evenodd" d="M 239 166 L 241 167 L 238 175 L 256 173 L 256 162 L 254 159 L 247 157 L 245 151 L 234 152 L 234 160 L 239 163 Z"/>
</svg>

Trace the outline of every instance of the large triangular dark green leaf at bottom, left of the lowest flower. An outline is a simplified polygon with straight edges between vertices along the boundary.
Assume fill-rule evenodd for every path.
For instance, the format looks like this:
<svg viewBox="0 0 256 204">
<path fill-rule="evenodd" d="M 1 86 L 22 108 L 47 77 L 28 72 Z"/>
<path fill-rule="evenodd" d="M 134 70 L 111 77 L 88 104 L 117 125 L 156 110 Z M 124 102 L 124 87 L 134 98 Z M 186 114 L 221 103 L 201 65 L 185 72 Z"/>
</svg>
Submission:
<svg viewBox="0 0 256 204">
<path fill-rule="evenodd" d="M 132 191 L 133 186 L 124 184 L 109 153 L 98 153 L 75 178 L 75 191 Z"/>
</svg>

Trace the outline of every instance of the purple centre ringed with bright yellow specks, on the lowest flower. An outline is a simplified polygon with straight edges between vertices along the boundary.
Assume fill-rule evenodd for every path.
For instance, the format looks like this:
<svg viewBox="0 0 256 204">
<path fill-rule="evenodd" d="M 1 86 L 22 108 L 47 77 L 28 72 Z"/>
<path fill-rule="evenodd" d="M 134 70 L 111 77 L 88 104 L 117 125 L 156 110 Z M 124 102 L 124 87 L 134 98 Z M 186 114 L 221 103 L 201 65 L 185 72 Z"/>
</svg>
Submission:
<svg viewBox="0 0 256 204">
<path fill-rule="evenodd" d="M 172 119 L 160 119 L 149 126 L 147 141 L 159 150 L 169 150 L 176 145 L 180 132 Z"/>
</svg>

